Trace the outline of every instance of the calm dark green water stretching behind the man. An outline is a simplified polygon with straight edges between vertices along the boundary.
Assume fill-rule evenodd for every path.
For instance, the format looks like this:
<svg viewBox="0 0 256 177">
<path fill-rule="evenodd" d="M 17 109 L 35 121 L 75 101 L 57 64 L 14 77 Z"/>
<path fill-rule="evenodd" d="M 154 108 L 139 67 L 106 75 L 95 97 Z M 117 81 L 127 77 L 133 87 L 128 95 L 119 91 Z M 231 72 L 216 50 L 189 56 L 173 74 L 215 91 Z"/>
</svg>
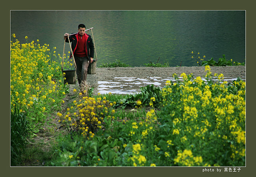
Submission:
<svg viewBox="0 0 256 177">
<path fill-rule="evenodd" d="M 144 66 L 159 57 L 169 66 L 197 66 L 191 51 L 245 62 L 245 11 L 11 11 L 20 43 L 39 39 L 61 56 L 64 33 L 76 33 L 80 23 L 93 27 L 97 66 L 119 59 Z"/>
</svg>

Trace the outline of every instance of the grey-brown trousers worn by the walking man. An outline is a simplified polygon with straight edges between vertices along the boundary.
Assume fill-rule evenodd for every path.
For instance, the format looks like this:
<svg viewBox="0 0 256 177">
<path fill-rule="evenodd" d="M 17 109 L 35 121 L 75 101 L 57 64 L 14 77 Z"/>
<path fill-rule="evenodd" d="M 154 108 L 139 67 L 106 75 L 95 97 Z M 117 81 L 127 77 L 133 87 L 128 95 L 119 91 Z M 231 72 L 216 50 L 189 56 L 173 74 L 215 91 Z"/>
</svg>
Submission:
<svg viewBox="0 0 256 177">
<path fill-rule="evenodd" d="M 87 57 L 77 57 L 74 56 L 76 62 L 76 74 L 79 85 L 82 81 L 85 81 L 87 78 L 87 69 L 89 66 L 89 60 Z"/>
</svg>

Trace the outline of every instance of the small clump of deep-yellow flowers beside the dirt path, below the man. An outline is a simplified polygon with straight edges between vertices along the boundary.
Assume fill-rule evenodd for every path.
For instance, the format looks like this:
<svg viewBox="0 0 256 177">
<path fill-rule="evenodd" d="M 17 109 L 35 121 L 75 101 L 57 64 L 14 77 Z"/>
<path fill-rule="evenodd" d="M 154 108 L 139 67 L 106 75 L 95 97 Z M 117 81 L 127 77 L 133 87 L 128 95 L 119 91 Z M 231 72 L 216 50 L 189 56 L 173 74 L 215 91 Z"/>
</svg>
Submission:
<svg viewBox="0 0 256 177">
<path fill-rule="evenodd" d="M 70 131 L 80 132 L 87 139 L 93 138 L 96 131 L 102 129 L 104 119 L 115 119 L 113 103 L 106 100 L 106 97 L 103 100 L 100 97 L 96 99 L 82 97 L 79 101 L 74 100 L 73 104 L 74 106 L 67 110 L 65 116 L 58 113 L 59 122 L 63 122 Z M 74 113 L 69 111 L 74 111 Z"/>
</svg>

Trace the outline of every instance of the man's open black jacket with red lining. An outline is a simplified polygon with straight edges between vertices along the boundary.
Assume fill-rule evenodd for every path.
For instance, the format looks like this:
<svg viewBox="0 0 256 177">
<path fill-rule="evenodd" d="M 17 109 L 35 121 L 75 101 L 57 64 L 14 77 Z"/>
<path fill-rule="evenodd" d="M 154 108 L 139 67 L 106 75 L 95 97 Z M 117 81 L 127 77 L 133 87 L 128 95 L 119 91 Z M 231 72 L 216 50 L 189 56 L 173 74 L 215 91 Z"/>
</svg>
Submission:
<svg viewBox="0 0 256 177">
<path fill-rule="evenodd" d="M 76 47 L 77 47 L 77 41 L 78 41 L 78 35 L 79 33 L 76 33 L 76 35 L 69 35 L 69 39 L 66 38 L 65 42 L 72 42 L 71 44 L 71 48 L 73 51 L 73 54 L 76 51 Z M 86 56 L 88 59 L 93 58 L 94 57 L 94 45 L 93 45 L 93 39 L 91 38 L 91 35 L 88 34 L 84 34 L 85 35 L 85 52 L 86 52 Z M 70 58 L 72 57 L 72 53 L 70 54 Z"/>
</svg>

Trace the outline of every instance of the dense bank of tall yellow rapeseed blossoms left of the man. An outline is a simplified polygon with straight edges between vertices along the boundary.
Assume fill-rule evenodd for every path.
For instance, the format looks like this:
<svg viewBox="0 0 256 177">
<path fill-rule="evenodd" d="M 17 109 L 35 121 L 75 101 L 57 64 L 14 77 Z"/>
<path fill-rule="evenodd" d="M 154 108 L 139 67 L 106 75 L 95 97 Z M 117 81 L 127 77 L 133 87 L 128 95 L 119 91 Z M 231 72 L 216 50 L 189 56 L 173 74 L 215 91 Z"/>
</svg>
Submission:
<svg viewBox="0 0 256 177">
<path fill-rule="evenodd" d="M 16 37 L 15 34 L 12 36 Z M 63 98 L 61 70 L 58 62 L 52 60 L 48 46 L 48 44 L 41 46 L 34 41 L 26 44 L 20 44 L 18 40 L 11 41 L 11 111 L 17 106 L 20 111 L 29 109 L 30 115 L 35 119 L 43 119 L 47 109 L 61 104 Z"/>
</svg>

